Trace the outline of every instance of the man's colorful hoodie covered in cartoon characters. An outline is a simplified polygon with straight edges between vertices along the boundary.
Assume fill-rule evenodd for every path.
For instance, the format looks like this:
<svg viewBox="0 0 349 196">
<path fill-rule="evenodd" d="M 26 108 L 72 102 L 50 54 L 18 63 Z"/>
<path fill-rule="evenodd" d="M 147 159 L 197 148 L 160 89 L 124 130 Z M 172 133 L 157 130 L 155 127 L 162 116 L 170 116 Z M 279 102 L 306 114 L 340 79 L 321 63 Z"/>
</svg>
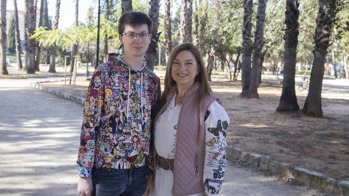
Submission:
<svg viewBox="0 0 349 196">
<path fill-rule="evenodd" d="M 134 71 L 110 53 L 91 78 L 84 104 L 79 175 L 93 166 L 127 169 L 148 166 L 153 174 L 153 117 L 161 97 L 160 80 L 146 63 Z"/>
</svg>

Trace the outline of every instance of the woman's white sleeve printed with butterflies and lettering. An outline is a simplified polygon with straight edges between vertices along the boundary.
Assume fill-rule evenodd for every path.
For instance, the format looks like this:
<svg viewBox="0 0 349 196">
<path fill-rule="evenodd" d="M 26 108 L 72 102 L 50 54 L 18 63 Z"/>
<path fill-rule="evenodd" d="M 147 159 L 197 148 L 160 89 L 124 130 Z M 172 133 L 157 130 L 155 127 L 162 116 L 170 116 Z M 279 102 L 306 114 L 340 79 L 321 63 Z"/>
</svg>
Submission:
<svg viewBox="0 0 349 196">
<path fill-rule="evenodd" d="M 203 182 L 207 195 L 217 195 L 222 189 L 227 161 L 225 147 L 229 116 L 224 108 L 214 101 L 205 114 L 206 153 Z"/>
</svg>

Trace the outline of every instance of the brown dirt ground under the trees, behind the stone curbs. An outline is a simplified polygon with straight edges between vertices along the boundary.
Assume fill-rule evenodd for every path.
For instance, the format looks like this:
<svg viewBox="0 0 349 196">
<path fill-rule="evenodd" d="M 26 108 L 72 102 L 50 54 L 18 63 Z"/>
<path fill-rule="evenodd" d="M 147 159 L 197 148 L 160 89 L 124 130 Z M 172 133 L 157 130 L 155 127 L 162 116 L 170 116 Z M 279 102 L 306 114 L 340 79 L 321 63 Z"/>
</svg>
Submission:
<svg viewBox="0 0 349 196">
<path fill-rule="evenodd" d="M 43 83 L 85 97 L 89 81 L 77 81 L 74 86 L 62 84 Z M 337 180 L 349 180 L 349 100 L 323 98 L 324 118 L 312 118 L 301 113 L 275 112 L 281 84 L 261 84 L 260 99 L 240 98 L 240 82 L 217 81 L 210 85 L 230 117 L 228 144 Z M 306 94 L 296 93 L 302 107 Z"/>
</svg>

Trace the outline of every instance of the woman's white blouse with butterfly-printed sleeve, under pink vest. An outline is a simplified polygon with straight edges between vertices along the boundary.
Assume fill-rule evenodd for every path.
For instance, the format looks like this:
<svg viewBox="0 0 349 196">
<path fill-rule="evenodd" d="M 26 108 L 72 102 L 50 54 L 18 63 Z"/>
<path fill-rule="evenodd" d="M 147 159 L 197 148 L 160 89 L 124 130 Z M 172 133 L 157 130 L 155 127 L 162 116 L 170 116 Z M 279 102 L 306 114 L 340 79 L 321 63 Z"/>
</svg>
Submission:
<svg viewBox="0 0 349 196">
<path fill-rule="evenodd" d="M 173 159 L 176 153 L 178 118 L 182 104 L 175 106 L 175 96 L 168 107 L 159 116 L 155 127 L 155 147 L 159 156 Z M 223 122 L 223 123 L 222 123 Z M 228 114 L 224 108 L 214 101 L 205 114 L 206 153 L 203 168 L 203 182 L 207 195 L 217 195 L 222 188 L 226 167 L 225 147 L 226 131 L 229 124 Z M 163 168 L 156 168 L 155 190 L 152 196 L 171 195 L 173 173 Z M 202 196 L 204 193 L 190 196 Z"/>
</svg>

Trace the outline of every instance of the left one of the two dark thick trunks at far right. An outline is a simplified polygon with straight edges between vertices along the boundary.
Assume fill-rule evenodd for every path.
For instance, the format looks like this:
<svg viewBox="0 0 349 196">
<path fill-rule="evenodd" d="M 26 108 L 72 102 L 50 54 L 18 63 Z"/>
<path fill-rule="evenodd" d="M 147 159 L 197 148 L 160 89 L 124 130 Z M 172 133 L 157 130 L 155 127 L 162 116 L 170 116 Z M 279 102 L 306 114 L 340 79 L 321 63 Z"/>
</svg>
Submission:
<svg viewBox="0 0 349 196">
<path fill-rule="evenodd" d="M 295 90 L 296 56 L 298 44 L 299 1 L 287 0 L 285 12 L 285 51 L 282 93 L 276 111 L 299 110 Z"/>
</svg>

